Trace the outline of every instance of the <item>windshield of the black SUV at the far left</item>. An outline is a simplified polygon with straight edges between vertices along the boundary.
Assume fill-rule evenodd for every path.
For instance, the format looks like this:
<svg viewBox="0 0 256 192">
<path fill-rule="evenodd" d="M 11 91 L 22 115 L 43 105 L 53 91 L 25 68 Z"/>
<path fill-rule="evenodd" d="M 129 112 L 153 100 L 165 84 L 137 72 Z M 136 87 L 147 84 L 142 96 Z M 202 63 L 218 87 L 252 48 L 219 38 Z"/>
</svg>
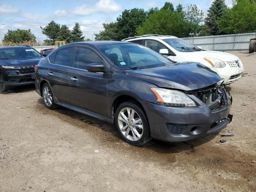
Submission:
<svg viewBox="0 0 256 192">
<path fill-rule="evenodd" d="M 0 49 L 0 59 L 42 57 L 36 50 L 27 47 Z"/>
</svg>

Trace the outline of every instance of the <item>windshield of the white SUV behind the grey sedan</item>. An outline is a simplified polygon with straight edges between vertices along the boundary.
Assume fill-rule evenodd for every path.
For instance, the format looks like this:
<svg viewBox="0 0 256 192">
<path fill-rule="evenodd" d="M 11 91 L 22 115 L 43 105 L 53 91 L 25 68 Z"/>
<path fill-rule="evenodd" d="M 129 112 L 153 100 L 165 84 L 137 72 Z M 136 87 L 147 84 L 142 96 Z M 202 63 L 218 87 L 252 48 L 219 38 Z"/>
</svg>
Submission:
<svg viewBox="0 0 256 192">
<path fill-rule="evenodd" d="M 194 51 L 203 51 L 202 49 L 198 48 L 197 46 L 187 42 L 183 39 L 163 39 L 164 42 L 168 43 L 174 49 L 180 52 L 194 52 Z"/>
</svg>

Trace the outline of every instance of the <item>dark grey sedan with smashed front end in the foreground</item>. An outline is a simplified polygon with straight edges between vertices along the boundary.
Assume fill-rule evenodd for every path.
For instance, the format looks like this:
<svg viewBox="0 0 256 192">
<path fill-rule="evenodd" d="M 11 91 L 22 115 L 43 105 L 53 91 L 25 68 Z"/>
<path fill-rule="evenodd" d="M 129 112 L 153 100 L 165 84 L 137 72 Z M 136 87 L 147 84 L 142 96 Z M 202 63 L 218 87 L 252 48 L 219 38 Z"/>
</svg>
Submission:
<svg viewBox="0 0 256 192">
<path fill-rule="evenodd" d="M 181 142 L 231 121 L 222 79 L 199 63 L 173 63 L 142 45 L 94 41 L 67 44 L 35 67 L 36 91 L 56 105 L 116 124 L 140 146 L 150 138 Z"/>
</svg>

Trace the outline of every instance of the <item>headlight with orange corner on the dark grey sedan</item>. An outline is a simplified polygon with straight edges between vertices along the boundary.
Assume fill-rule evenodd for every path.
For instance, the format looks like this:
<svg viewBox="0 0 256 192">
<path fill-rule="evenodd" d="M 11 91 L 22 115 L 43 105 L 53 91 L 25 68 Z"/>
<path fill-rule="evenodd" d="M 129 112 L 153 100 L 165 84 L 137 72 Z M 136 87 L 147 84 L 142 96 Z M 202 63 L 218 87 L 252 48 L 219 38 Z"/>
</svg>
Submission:
<svg viewBox="0 0 256 192">
<path fill-rule="evenodd" d="M 157 102 L 160 105 L 173 107 L 197 106 L 197 104 L 183 92 L 163 88 L 151 88 L 151 90 L 156 95 Z"/>
</svg>

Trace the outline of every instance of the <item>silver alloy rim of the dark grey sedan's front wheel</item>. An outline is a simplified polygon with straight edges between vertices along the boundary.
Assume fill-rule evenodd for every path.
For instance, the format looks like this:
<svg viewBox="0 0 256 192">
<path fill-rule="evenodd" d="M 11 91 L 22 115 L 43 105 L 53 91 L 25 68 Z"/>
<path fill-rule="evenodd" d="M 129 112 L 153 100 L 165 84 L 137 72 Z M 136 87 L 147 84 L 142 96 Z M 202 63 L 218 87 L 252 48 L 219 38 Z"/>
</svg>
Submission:
<svg viewBox="0 0 256 192">
<path fill-rule="evenodd" d="M 143 134 L 143 123 L 139 114 L 132 108 L 123 108 L 118 114 L 118 127 L 130 141 L 138 141 Z"/>
</svg>

